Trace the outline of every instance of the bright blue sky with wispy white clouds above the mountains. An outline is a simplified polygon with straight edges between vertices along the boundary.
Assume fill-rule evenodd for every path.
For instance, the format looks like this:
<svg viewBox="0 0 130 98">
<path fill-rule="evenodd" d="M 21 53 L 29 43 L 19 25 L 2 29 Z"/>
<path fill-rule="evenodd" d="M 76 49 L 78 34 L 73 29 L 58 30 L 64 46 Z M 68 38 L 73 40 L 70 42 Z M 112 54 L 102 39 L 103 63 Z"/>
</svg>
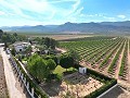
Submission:
<svg viewBox="0 0 130 98">
<path fill-rule="evenodd" d="M 0 0 L 0 26 L 130 20 L 130 0 Z"/>
</svg>

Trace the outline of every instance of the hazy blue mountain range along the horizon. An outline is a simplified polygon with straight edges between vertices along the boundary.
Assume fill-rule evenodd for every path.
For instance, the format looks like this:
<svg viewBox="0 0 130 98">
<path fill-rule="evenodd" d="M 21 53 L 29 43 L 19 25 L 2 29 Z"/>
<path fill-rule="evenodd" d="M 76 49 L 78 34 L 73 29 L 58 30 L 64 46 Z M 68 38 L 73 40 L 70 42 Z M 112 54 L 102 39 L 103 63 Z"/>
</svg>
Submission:
<svg viewBox="0 0 130 98">
<path fill-rule="evenodd" d="M 101 23 L 70 23 L 62 25 L 36 25 L 0 27 L 4 32 L 16 33 L 91 33 L 91 34 L 130 34 L 130 21 Z"/>
</svg>

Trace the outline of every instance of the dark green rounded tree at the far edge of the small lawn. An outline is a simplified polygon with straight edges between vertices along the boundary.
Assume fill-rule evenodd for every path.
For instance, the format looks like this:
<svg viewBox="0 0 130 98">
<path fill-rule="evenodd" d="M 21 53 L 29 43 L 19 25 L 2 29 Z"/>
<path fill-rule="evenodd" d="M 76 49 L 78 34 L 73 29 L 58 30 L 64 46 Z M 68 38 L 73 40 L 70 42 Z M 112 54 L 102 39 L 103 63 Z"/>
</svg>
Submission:
<svg viewBox="0 0 130 98">
<path fill-rule="evenodd" d="M 67 70 L 74 65 L 74 59 L 69 54 L 63 54 L 60 59 L 60 65 Z"/>
</svg>

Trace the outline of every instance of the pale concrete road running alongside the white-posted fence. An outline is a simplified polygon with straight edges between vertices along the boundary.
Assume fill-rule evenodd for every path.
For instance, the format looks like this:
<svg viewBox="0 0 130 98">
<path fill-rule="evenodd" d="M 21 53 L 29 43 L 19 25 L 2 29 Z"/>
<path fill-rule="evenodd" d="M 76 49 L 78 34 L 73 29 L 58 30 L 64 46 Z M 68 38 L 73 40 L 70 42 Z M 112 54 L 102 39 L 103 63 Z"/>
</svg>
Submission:
<svg viewBox="0 0 130 98">
<path fill-rule="evenodd" d="M 3 58 L 4 74 L 10 98 L 26 98 L 23 88 L 20 86 L 20 83 L 13 73 L 12 66 L 8 60 L 8 54 L 3 51 L 2 47 L 0 47 L 0 53 Z"/>
</svg>

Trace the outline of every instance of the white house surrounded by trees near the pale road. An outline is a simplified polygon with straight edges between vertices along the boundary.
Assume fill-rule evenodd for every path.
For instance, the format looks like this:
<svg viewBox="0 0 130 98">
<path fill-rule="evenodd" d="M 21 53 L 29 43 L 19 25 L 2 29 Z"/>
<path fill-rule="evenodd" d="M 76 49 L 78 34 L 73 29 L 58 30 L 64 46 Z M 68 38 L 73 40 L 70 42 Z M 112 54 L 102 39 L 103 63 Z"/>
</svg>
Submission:
<svg viewBox="0 0 130 98">
<path fill-rule="evenodd" d="M 20 41 L 20 42 L 14 42 L 13 46 L 16 52 L 21 52 L 21 51 L 25 51 L 26 47 L 30 46 L 30 42 Z"/>
</svg>

